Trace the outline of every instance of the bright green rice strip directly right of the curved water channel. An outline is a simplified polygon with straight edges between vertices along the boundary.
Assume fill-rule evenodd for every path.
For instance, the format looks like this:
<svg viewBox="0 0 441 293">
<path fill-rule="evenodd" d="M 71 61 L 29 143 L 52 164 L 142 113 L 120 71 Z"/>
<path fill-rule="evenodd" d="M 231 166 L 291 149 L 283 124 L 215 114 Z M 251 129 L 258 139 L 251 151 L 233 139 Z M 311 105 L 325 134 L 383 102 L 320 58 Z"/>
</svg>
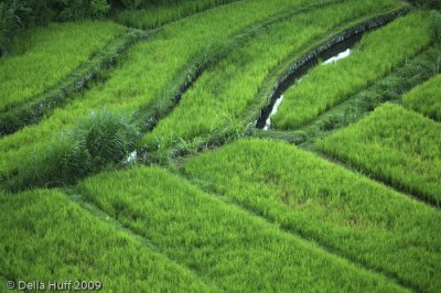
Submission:
<svg viewBox="0 0 441 293">
<path fill-rule="evenodd" d="M 389 74 L 430 44 L 429 26 L 427 13 L 411 13 L 363 37 L 347 58 L 313 68 L 286 93 L 275 128 L 300 127 Z"/>
</svg>

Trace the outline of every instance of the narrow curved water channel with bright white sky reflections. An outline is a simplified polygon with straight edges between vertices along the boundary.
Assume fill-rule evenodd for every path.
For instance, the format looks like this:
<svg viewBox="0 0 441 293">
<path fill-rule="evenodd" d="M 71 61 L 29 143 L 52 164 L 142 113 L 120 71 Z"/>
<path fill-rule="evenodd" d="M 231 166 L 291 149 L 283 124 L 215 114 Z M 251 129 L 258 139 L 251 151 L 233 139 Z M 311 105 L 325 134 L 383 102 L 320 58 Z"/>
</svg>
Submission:
<svg viewBox="0 0 441 293">
<path fill-rule="evenodd" d="M 387 21 L 386 21 L 387 23 Z M 378 29 L 386 23 L 381 23 L 376 28 L 369 29 Z M 329 46 L 322 52 L 318 52 L 316 54 L 308 54 L 305 57 L 301 58 L 300 63 L 304 61 L 300 66 L 298 66 L 294 70 L 288 74 L 279 85 L 275 88 L 269 97 L 269 104 L 263 107 L 260 111 L 259 118 L 256 120 L 256 128 L 270 130 L 271 128 L 271 116 L 275 115 L 283 100 L 283 94 L 294 84 L 302 78 L 308 72 L 315 67 L 320 61 L 323 61 L 323 65 L 337 62 L 342 58 L 347 57 L 352 53 L 352 48 L 362 40 L 363 35 L 370 30 L 361 30 L 355 32 L 355 34 L 348 37 L 341 37 L 342 41 Z"/>
</svg>

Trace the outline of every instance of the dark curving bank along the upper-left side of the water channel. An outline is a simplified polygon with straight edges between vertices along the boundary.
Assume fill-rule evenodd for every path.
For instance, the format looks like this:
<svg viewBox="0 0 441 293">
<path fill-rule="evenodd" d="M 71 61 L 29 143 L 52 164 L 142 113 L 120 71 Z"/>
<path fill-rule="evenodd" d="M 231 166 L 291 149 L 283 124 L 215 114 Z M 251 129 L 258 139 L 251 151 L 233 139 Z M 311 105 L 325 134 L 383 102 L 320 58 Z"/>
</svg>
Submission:
<svg viewBox="0 0 441 293">
<path fill-rule="evenodd" d="M 407 14 L 409 11 L 409 9 L 405 8 L 384 17 L 370 19 L 367 22 L 364 22 L 333 36 L 324 44 L 318 46 L 316 48 L 310 51 L 308 54 L 298 58 L 278 78 L 275 86 L 272 87 L 272 90 L 267 96 L 267 102 L 263 108 L 261 108 L 260 113 L 255 120 L 256 128 L 266 128 L 267 121 L 271 112 L 273 112 L 276 101 L 283 95 L 283 93 L 288 90 L 288 88 L 290 88 L 294 84 L 297 79 L 301 78 L 301 76 L 306 74 L 309 69 L 316 66 L 319 64 L 319 61 L 330 59 L 346 51 L 347 48 L 354 47 L 354 45 L 362 39 L 365 33 L 381 28 L 390 21 L 395 20 L 396 18 Z"/>
</svg>

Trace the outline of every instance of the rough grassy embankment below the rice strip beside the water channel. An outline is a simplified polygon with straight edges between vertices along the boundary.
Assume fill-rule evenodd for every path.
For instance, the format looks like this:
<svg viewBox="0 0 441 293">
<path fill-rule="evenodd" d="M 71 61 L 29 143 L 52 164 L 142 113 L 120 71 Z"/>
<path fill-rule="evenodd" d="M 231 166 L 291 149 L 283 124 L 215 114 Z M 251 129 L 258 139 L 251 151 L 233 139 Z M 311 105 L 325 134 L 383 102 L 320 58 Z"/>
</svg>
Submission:
<svg viewBox="0 0 441 293">
<path fill-rule="evenodd" d="M 357 122 L 377 106 L 386 101 L 398 102 L 401 100 L 401 96 L 409 90 L 411 91 L 405 94 L 405 97 L 412 95 L 413 87 L 424 83 L 434 75 L 433 63 L 437 62 L 440 50 L 437 46 L 426 50 L 417 57 L 406 61 L 405 64 L 385 78 L 376 80 L 372 87 L 363 89 L 298 130 L 258 130 L 255 135 L 286 140 L 290 143 L 310 149 L 315 140 L 322 139 L 335 130 Z"/>
</svg>

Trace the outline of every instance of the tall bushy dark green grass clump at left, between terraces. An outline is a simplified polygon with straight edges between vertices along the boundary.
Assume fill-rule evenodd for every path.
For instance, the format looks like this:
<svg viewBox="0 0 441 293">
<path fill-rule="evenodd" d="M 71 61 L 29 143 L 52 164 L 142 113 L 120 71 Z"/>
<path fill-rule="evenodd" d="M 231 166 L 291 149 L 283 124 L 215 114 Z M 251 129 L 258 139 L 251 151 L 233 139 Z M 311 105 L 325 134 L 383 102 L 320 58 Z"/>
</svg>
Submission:
<svg viewBox="0 0 441 293">
<path fill-rule="evenodd" d="M 107 109 L 92 111 L 71 131 L 54 135 L 19 159 L 9 189 L 72 184 L 88 174 L 123 164 L 139 138 L 130 117 Z"/>
</svg>

